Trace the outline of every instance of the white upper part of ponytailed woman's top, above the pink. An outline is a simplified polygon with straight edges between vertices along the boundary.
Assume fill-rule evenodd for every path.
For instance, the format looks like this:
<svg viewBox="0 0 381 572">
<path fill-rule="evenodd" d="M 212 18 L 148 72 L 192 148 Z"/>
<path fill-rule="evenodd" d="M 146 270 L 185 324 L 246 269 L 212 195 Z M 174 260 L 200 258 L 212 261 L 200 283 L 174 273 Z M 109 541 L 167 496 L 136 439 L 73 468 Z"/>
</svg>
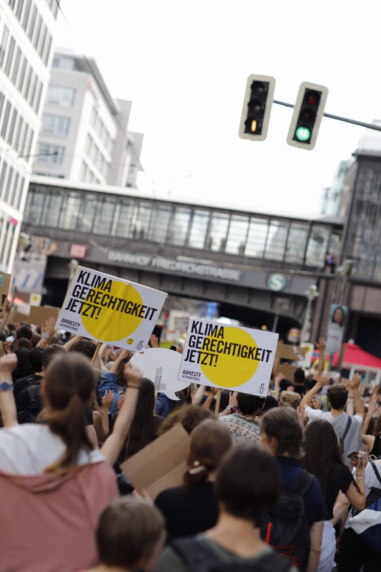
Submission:
<svg viewBox="0 0 381 572">
<path fill-rule="evenodd" d="M 12 475 L 39 475 L 63 457 L 66 445 L 43 423 L 23 423 L 0 429 L 0 470 Z M 83 450 L 77 464 L 105 460 L 99 450 Z"/>
</svg>

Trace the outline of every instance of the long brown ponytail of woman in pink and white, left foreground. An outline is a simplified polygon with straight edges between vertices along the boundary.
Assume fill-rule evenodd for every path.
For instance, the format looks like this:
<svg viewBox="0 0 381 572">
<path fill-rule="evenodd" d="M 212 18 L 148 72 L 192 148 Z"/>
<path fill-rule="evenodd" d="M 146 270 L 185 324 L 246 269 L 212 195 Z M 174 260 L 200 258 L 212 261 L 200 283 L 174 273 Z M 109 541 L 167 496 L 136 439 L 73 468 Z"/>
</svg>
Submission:
<svg viewBox="0 0 381 572">
<path fill-rule="evenodd" d="M 50 431 L 66 444 L 66 452 L 46 472 L 64 474 L 76 466 L 80 451 L 93 446 L 86 433 L 85 408 L 96 388 L 89 360 L 80 353 L 58 353 L 45 375 L 44 399 L 51 410 Z"/>
</svg>

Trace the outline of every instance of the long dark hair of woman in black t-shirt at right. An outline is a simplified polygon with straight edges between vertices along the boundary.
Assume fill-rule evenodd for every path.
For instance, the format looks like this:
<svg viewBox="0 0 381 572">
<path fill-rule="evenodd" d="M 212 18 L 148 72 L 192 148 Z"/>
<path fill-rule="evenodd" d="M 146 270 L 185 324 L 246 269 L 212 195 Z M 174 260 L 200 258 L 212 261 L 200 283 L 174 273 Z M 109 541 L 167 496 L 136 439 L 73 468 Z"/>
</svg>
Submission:
<svg viewBox="0 0 381 572">
<path fill-rule="evenodd" d="M 351 475 L 352 483 L 358 492 L 361 492 L 351 471 L 344 463 L 334 426 L 325 419 L 316 419 L 307 426 L 304 432 L 304 456 L 300 460 L 300 465 L 316 476 L 322 487 L 324 498 L 327 495 L 328 472 L 334 463 L 339 463 L 346 468 L 348 474 Z"/>
</svg>

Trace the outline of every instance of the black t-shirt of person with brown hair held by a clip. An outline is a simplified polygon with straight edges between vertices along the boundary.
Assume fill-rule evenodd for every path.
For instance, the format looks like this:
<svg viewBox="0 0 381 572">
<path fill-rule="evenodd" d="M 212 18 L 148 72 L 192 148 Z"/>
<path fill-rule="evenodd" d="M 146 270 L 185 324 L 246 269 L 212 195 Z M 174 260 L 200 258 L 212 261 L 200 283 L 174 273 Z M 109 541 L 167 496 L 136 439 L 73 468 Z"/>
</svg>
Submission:
<svg viewBox="0 0 381 572">
<path fill-rule="evenodd" d="M 164 514 L 166 530 L 172 538 L 182 538 L 211 529 L 219 517 L 213 483 L 204 482 L 187 490 L 167 488 L 156 497 L 156 506 Z"/>
</svg>

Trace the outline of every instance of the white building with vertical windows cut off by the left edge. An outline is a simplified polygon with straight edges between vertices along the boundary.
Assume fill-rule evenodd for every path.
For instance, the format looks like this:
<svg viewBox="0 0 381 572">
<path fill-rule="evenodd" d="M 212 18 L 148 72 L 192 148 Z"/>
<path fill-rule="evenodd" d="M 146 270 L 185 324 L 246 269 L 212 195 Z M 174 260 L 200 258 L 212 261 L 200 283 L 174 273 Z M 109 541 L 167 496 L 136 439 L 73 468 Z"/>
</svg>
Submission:
<svg viewBox="0 0 381 572">
<path fill-rule="evenodd" d="M 53 59 L 55 0 L 0 0 L 0 270 L 11 272 Z"/>
</svg>

